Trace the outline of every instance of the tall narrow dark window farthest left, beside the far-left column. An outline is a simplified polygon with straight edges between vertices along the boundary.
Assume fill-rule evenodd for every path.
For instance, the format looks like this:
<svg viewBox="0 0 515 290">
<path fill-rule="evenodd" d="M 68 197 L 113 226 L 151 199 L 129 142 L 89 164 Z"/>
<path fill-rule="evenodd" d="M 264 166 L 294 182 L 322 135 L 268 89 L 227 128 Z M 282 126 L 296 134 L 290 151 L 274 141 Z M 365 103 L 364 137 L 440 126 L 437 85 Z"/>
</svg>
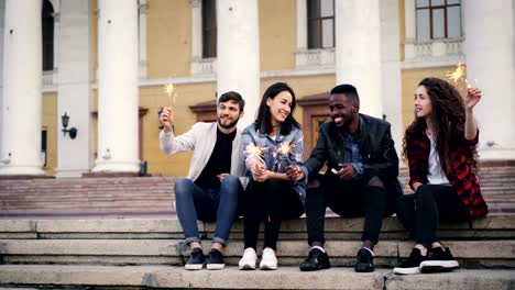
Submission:
<svg viewBox="0 0 515 290">
<path fill-rule="evenodd" d="M 43 40 L 43 70 L 54 69 L 54 8 L 48 0 L 43 1 L 41 16 Z"/>
</svg>

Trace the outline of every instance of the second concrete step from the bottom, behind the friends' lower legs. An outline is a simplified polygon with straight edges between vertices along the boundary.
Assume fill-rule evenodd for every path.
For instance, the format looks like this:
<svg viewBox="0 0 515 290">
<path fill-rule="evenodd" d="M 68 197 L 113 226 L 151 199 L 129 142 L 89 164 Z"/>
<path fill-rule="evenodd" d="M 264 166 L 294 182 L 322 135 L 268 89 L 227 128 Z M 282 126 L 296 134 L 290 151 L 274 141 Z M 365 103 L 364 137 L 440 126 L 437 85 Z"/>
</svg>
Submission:
<svg viewBox="0 0 515 290">
<path fill-rule="evenodd" d="M 442 241 L 454 257 L 469 268 L 515 268 L 515 241 Z M 210 243 L 206 243 L 206 255 Z M 392 267 L 406 258 L 413 242 L 382 241 L 375 248 L 377 266 Z M 336 266 L 352 266 L 361 246 L 359 241 L 328 241 L 326 249 Z M 282 265 L 298 265 L 309 247 L 305 241 L 280 241 Z M 226 261 L 237 265 L 243 242 L 233 241 Z M 88 265 L 183 265 L 189 255 L 182 239 L 0 239 L 3 264 L 88 264 Z"/>
</svg>

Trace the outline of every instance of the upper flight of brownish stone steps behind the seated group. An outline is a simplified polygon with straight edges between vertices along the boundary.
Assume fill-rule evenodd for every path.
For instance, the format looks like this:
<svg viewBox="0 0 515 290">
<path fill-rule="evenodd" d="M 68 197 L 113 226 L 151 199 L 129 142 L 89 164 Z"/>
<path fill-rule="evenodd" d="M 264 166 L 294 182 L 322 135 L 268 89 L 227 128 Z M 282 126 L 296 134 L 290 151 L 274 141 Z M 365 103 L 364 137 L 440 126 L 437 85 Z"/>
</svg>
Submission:
<svg viewBox="0 0 515 290">
<path fill-rule="evenodd" d="M 175 177 L 0 179 L 0 216 L 173 214 Z M 407 168 L 401 168 L 405 192 Z M 491 212 L 515 212 L 515 165 L 483 166 L 480 182 Z"/>
</svg>

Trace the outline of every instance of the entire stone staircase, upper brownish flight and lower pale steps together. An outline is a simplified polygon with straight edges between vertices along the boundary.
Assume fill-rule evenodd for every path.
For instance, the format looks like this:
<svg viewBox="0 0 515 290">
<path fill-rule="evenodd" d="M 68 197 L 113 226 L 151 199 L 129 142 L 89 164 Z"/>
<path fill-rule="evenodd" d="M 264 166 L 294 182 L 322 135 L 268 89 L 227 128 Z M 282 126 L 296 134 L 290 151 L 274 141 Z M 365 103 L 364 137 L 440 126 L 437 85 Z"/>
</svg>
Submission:
<svg viewBox="0 0 515 290">
<path fill-rule="evenodd" d="M 483 166 L 491 214 L 446 224 L 439 237 L 462 266 L 449 274 L 397 276 L 413 242 L 395 216 L 383 223 L 376 271 L 355 274 L 363 219 L 328 213 L 335 267 L 300 272 L 305 220 L 283 223 L 276 271 L 239 271 L 242 222 L 226 248 L 227 269 L 186 271 L 189 252 L 173 208 L 173 177 L 0 180 L 0 290 L 20 289 L 515 289 L 515 166 Z M 407 188 L 407 170 L 401 170 Z M 205 252 L 215 224 L 198 223 Z"/>
</svg>

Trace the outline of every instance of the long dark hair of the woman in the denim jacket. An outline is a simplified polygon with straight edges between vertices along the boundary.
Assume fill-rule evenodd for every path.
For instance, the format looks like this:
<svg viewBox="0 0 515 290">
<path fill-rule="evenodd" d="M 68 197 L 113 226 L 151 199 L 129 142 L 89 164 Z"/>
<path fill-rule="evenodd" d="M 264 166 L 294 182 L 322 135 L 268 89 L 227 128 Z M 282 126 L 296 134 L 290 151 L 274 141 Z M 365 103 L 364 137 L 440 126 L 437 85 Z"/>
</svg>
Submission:
<svg viewBox="0 0 515 290">
<path fill-rule="evenodd" d="M 289 134 L 294 127 L 300 129 L 300 124 L 293 116 L 295 107 L 297 104 L 295 92 L 286 82 L 275 82 L 274 85 L 270 86 L 263 93 L 260 109 L 258 109 L 258 118 L 255 119 L 255 130 L 260 130 L 266 134 L 272 132 L 272 114 L 270 113 L 270 107 L 266 105 L 266 100 L 269 98 L 274 99 L 282 91 L 288 91 L 292 94 L 292 111 L 280 126 L 281 135 Z"/>
</svg>

